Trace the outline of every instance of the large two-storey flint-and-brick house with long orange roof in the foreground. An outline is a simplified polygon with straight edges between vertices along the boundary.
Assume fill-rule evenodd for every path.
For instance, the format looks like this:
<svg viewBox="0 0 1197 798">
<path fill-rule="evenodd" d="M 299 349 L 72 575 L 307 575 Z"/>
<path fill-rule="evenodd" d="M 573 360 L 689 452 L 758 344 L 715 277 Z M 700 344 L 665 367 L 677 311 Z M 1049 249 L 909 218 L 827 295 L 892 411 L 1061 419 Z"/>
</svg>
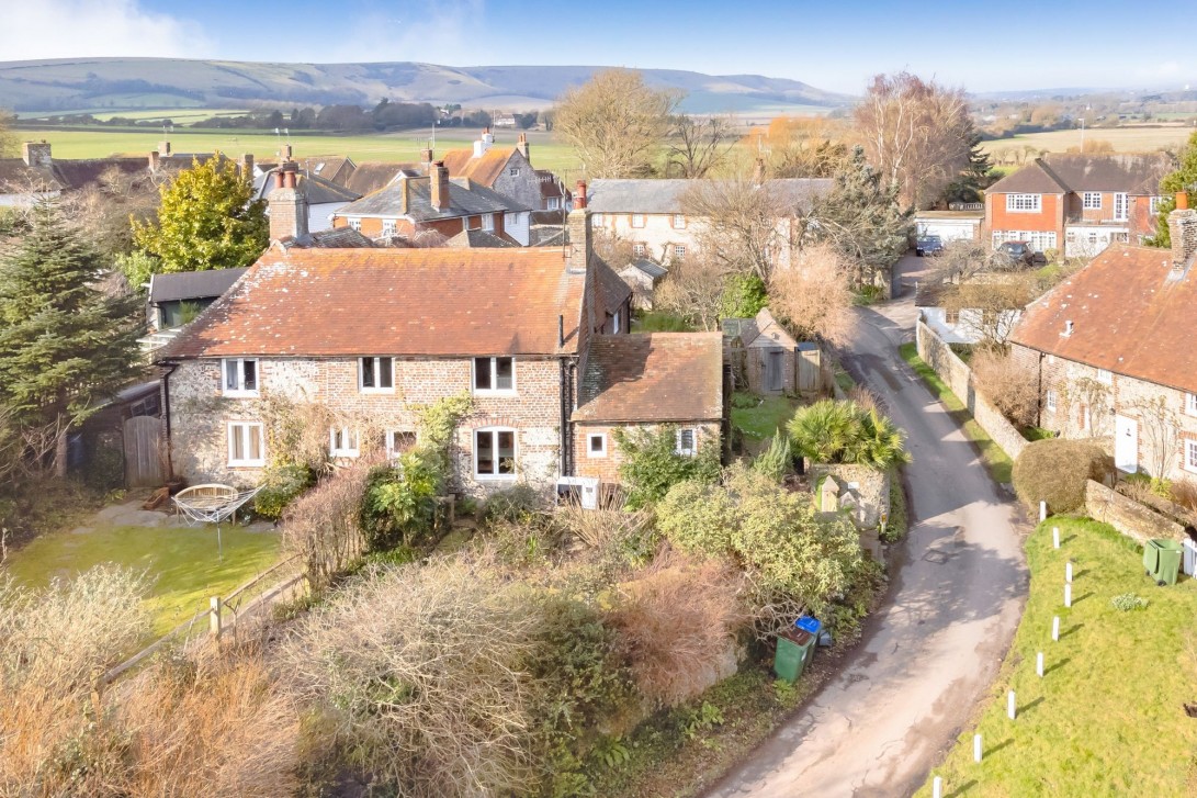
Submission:
<svg viewBox="0 0 1197 798">
<path fill-rule="evenodd" d="M 271 199 L 293 194 L 284 186 Z M 272 214 L 272 228 L 285 216 Z M 256 482 L 278 454 L 266 429 L 272 395 L 323 406 L 330 457 L 352 459 L 409 446 L 418 405 L 469 393 L 451 451 L 455 491 L 517 480 L 548 491 L 576 476 L 573 411 L 596 399 L 583 375 L 604 362 L 606 341 L 625 337 L 631 292 L 594 255 L 584 208 L 569 232 L 565 250 L 275 241 L 158 356 L 175 472 Z M 649 421 L 673 421 L 651 407 Z"/>
</svg>

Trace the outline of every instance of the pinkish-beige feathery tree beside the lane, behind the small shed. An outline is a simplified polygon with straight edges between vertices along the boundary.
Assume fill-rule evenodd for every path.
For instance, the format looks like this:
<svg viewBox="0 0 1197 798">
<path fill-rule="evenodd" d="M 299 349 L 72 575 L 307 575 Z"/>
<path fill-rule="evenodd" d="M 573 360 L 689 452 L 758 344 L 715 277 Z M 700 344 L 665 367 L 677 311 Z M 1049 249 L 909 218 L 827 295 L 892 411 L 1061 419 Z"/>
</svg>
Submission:
<svg viewBox="0 0 1197 798">
<path fill-rule="evenodd" d="M 790 268 L 773 272 L 770 308 L 790 324 L 800 339 L 846 344 L 856 324 L 850 273 L 843 255 L 831 244 L 807 247 Z"/>
</svg>

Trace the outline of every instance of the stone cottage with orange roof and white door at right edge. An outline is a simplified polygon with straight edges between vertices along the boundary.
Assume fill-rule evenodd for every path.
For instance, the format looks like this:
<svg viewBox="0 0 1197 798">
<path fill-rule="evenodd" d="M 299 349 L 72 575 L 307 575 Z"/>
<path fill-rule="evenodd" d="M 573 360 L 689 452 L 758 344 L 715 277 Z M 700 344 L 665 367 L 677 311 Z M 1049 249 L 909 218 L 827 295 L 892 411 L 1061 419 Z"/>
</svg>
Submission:
<svg viewBox="0 0 1197 798">
<path fill-rule="evenodd" d="M 1166 479 L 1197 474 L 1197 213 L 1185 205 L 1168 217 L 1171 250 L 1111 246 L 1032 302 L 1009 339 L 1037 380 L 1040 427 Z"/>
</svg>

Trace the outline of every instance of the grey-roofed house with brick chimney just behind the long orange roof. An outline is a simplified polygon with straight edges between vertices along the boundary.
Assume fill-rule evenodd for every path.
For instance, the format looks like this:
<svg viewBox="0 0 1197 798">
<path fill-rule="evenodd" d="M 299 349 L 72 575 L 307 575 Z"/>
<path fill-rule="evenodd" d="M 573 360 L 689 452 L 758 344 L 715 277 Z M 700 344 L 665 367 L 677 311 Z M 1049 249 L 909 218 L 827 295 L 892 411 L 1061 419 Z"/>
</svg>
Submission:
<svg viewBox="0 0 1197 798">
<path fill-rule="evenodd" d="M 400 173 L 388 186 L 339 208 L 333 226 L 370 238 L 414 238 L 425 231 L 451 238 L 463 230 L 485 230 L 527 247 L 531 208 L 469 179 L 452 180 L 436 162 L 426 177 Z"/>
</svg>

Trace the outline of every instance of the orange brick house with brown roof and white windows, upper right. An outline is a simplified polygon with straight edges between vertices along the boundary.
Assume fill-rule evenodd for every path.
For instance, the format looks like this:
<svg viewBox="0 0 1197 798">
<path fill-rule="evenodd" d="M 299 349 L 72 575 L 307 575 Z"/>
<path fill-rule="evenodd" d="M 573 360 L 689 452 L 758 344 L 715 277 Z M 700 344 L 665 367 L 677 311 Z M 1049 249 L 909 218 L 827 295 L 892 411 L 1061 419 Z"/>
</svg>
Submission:
<svg viewBox="0 0 1197 798">
<path fill-rule="evenodd" d="M 1166 153 L 1047 153 L 985 191 L 982 240 L 1028 241 L 1038 252 L 1096 255 L 1155 232 Z"/>
</svg>

